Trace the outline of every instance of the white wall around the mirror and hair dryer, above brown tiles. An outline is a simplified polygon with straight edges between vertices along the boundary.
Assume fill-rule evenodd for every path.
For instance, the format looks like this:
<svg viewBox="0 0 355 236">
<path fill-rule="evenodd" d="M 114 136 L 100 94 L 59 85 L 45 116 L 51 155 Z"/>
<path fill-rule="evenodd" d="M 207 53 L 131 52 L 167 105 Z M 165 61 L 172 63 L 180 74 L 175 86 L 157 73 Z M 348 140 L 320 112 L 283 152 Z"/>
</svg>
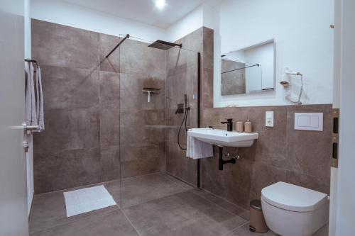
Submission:
<svg viewBox="0 0 355 236">
<path fill-rule="evenodd" d="M 226 0 L 214 8 L 214 106 L 285 105 L 282 69 L 300 71 L 305 104 L 332 103 L 333 0 Z M 275 39 L 275 91 L 221 96 L 220 55 Z"/>
</svg>

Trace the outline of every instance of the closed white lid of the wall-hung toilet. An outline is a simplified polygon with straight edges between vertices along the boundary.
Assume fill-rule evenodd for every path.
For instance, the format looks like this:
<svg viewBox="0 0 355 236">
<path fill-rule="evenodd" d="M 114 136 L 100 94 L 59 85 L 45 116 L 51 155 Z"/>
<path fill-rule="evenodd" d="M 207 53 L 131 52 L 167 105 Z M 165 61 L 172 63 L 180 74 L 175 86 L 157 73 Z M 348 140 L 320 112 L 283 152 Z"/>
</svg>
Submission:
<svg viewBox="0 0 355 236">
<path fill-rule="evenodd" d="M 261 190 L 261 197 L 275 207 L 298 212 L 312 211 L 327 201 L 327 194 L 278 182 Z"/>
</svg>

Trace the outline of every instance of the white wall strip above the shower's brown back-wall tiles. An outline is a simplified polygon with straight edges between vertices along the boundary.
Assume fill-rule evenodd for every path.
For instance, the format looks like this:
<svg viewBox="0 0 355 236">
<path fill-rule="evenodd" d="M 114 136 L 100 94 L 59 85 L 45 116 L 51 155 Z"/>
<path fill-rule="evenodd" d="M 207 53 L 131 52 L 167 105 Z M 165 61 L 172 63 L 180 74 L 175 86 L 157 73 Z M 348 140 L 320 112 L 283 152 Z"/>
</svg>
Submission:
<svg viewBox="0 0 355 236">
<path fill-rule="evenodd" d="M 146 42 L 165 39 L 165 30 L 161 28 L 58 0 L 32 0 L 31 17 L 109 35 L 129 33 Z"/>
</svg>

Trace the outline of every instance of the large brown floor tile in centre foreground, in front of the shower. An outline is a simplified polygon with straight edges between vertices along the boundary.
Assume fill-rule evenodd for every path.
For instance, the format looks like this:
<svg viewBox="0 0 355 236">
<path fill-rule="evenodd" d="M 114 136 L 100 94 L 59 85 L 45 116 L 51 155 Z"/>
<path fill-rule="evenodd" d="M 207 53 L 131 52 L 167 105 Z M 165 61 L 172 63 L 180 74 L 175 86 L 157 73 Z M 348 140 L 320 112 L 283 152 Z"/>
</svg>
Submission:
<svg viewBox="0 0 355 236">
<path fill-rule="evenodd" d="M 125 208 L 141 235 L 223 235 L 246 220 L 191 191 Z"/>
</svg>

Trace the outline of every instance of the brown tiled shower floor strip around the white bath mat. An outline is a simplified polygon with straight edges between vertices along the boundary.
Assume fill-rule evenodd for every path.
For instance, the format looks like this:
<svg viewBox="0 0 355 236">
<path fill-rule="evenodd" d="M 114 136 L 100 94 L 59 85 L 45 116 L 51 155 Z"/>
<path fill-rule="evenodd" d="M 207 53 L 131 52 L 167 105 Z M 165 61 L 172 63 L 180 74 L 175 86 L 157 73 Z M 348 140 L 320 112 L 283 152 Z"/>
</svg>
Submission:
<svg viewBox="0 0 355 236">
<path fill-rule="evenodd" d="M 191 186 L 178 179 L 161 173 L 109 181 L 104 183 L 104 186 L 114 197 L 116 203 L 122 207 L 146 203 L 147 201 L 192 189 Z M 30 232 L 45 230 L 57 225 L 70 223 L 80 218 L 87 217 L 88 215 L 119 208 L 119 206 L 110 206 L 109 208 L 103 208 L 67 218 L 63 192 L 64 191 L 56 191 L 35 196 L 30 218 Z"/>
</svg>

